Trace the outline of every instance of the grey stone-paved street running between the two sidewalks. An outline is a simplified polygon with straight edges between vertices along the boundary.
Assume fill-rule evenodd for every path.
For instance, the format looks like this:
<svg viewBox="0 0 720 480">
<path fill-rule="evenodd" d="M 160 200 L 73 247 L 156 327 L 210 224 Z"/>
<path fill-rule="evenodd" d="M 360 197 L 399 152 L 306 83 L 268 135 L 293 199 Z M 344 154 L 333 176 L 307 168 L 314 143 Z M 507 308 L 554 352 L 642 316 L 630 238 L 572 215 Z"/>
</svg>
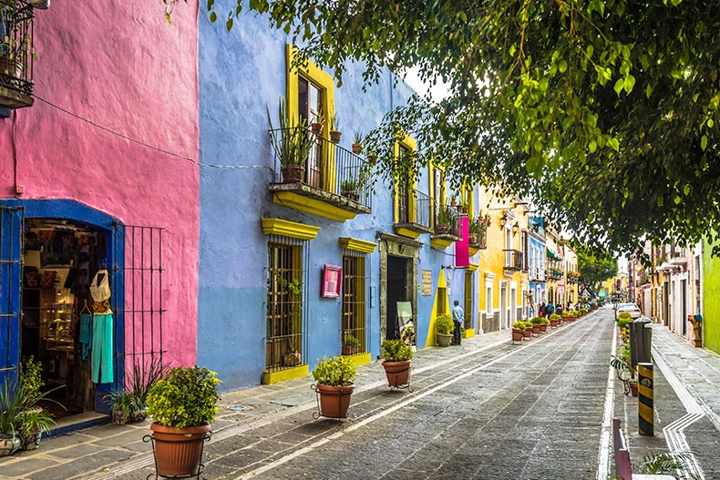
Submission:
<svg viewBox="0 0 720 480">
<path fill-rule="evenodd" d="M 385 386 L 355 393 L 344 422 L 313 420 L 306 411 L 213 439 L 205 476 L 594 478 L 612 347 L 609 315 L 414 373 L 412 393 Z"/>
</svg>

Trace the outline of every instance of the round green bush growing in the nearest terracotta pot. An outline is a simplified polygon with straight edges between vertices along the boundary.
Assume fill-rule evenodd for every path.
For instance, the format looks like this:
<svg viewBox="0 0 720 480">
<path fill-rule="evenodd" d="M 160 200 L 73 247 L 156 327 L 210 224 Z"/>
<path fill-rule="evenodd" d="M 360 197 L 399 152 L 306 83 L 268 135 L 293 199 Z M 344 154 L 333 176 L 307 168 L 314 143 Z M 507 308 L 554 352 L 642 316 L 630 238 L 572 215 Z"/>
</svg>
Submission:
<svg viewBox="0 0 720 480">
<path fill-rule="evenodd" d="M 148 393 L 148 414 L 153 422 L 175 428 L 211 424 L 220 400 L 217 373 L 207 368 L 170 369 Z"/>
</svg>

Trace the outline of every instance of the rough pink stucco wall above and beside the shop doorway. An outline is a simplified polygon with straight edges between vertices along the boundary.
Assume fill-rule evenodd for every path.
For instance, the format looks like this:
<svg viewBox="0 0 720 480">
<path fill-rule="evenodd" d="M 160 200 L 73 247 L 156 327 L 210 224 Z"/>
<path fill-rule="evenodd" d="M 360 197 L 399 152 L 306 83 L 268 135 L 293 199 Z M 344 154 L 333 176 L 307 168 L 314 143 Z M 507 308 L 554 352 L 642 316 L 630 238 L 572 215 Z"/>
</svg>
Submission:
<svg viewBox="0 0 720 480">
<path fill-rule="evenodd" d="M 0 197 L 22 186 L 22 199 L 74 199 L 164 228 L 164 343 L 169 360 L 194 363 L 198 5 L 181 4 L 172 25 L 163 6 L 53 0 L 36 12 L 36 102 L 0 119 Z"/>
</svg>

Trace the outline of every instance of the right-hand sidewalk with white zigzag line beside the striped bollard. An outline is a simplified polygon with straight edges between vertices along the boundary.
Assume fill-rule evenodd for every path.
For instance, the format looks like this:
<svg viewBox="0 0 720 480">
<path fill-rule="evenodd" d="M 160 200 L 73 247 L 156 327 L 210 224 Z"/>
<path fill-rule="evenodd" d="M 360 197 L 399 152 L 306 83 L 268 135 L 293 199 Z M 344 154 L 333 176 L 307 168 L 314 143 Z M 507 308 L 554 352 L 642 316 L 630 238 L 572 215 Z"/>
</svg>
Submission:
<svg viewBox="0 0 720 480">
<path fill-rule="evenodd" d="M 653 437 L 637 434 L 637 399 L 615 394 L 633 464 L 646 454 L 692 452 L 697 478 L 720 478 L 720 355 L 653 324 L 653 364 Z"/>
</svg>

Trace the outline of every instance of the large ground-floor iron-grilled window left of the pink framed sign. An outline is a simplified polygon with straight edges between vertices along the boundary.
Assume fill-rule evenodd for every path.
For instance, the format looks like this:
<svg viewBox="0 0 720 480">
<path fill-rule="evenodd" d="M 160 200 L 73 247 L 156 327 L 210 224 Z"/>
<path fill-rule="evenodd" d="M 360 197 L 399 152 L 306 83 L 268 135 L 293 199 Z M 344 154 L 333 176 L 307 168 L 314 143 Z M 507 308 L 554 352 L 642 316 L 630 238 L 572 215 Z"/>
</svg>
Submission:
<svg viewBox="0 0 720 480">
<path fill-rule="evenodd" d="M 268 242 L 265 370 L 303 364 L 303 240 L 272 237 Z"/>
</svg>

